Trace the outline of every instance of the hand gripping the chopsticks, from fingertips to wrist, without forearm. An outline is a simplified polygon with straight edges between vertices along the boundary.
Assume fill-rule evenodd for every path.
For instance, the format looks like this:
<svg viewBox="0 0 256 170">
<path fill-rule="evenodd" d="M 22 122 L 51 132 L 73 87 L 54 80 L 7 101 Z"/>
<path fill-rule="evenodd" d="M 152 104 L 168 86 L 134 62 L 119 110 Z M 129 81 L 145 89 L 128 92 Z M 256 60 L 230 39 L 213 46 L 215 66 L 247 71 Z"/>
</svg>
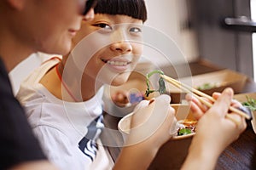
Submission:
<svg viewBox="0 0 256 170">
<path fill-rule="evenodd" d="M 245 117 L 230 112 L 232 98 L 233 90 L 226 88 L 218 96 L 212 107 L 201 116 L 197 122 L 196 134 L 192 141 L 195 147 L 202 147 L 203 150 L 208 149 L 211 153 L 212 151 L 221 153 L 245 130 L 247 127 Z M 230 117 L 227 118 L 227 116 Z"/>
</svg>

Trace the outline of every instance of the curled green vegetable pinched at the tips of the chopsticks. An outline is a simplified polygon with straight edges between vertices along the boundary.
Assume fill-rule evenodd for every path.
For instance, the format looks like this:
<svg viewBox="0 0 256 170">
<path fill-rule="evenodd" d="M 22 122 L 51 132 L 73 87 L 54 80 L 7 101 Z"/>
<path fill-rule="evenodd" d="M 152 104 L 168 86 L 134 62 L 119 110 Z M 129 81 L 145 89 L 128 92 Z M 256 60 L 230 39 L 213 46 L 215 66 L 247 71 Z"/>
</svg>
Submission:
<svg viewBox="0 0 256 170">
<path fill-rule="evenodd" d="M 162 77 L 160 77 L 158 83 L 159 83 L 159 89 L 158 90 L 154 90 L 154 89 L 150 89 L 149 87 L 149 78 L 154 75 L 154 74 L 160 74 L 160 75 L 164 75 L 163 71 L 151 71 L 147 74 L 147 90 L 146 90 L 146 96 L 148 97 L 149 94 L 152 94 L 154 92 L 159 92 L 160 94 L 164 94 L 166 93 L 166 84 L 165 81 Z"/>
</svg>

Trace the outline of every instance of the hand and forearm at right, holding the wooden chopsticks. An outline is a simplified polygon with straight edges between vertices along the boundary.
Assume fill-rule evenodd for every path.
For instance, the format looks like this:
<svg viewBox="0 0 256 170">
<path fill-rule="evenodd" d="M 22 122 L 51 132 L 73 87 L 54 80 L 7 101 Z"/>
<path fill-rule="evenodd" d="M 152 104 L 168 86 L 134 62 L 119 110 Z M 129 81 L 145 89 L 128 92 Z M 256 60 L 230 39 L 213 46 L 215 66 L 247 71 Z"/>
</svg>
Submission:
<svg viewBox="0 0 256 170">
<path fill-rule="evenodd" d="M 201 107 L 201 104 L 192 99 L 200 120 L 183 169 L 214 169 L 221 152 L 238 139 L 247 127 L 244 117 L 229 112 L 230 105 L 237 105 L 232 100 L 233 94 L 231 88 L 226 88 L 222 94 L 214 94 L 213 97 L 217 100 L 210 109 Z M 227 114 L 239 124 L 226 118 Z"/>
</svg>

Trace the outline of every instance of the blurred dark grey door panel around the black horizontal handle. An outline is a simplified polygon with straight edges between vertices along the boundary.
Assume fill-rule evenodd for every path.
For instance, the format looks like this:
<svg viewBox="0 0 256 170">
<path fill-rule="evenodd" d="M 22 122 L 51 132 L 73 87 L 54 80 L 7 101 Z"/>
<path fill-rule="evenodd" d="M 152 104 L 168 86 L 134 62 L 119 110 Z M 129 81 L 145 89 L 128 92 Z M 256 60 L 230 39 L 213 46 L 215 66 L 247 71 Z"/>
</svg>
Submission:
<svg viewBox="0 0 256 170">
<path fill-rule="evenodd" d="M 195 29 L 202 59 L 253 77 L 252 33 L 224 27 L 224 18 L 250 18 L 249 0 L 189 0 L 191 29 Z"/>
</svg>

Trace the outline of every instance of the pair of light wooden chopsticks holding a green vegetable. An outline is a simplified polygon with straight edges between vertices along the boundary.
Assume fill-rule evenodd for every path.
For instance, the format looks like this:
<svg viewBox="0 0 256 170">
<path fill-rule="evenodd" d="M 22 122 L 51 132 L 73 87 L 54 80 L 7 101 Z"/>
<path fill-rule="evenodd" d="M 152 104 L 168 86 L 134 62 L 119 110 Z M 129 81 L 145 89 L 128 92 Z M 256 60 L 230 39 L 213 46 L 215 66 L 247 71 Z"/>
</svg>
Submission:
<svg viewBox="0 0 256 170">
<path fill-rule="evenodd" d="M 183 90 L 186 93 L 191 93 L 194 94 L 196 99 L 199 99 L 201 101 L 201 103 L 203 103 L 204 105 L 207 105 L 207 107 L 212 107 L 212 104 L 210 102 L 208 102 L 206 99 L 209 99 L 210 101 L 212 101 L 213 103 L 216 101 L 216 99 L 213 99 L 212 96 L 209 96 L 207 94 L 202 93 L 201 91 L 195 89 L 195 88 L 191 88 L 188 85 L 182 83 L 182 82 L 178 82 L 177 80 L 175 80 L 174 78 L 171 77 L 167 77 L 166 75 L 160 75 L 160 77 L 164 78 L 167 82 L 172 83 L 173 86 L 180 88 L 181 90 Z M 202 99 L 201 97 L 204 97 L 206 99 Z M 250 120 L 251 117 L 248 116 L 246 113 L 244 113 L 243 111 L 240 111 L 238 109 L 236 109 L 235 107 L 230 106 L 230 111 L 236 112 L 238 115 L 240 116 L 244 116 L 247 120 Z M 235 119 L 233 119 L 232 116 L 230 116 L 229 114 L 226 115 L 227 118 L 229 118 L 231 121 L 235 122 L 236 125 L 239 125 L 240 122 L 237 122 Z"/>
</svg>

